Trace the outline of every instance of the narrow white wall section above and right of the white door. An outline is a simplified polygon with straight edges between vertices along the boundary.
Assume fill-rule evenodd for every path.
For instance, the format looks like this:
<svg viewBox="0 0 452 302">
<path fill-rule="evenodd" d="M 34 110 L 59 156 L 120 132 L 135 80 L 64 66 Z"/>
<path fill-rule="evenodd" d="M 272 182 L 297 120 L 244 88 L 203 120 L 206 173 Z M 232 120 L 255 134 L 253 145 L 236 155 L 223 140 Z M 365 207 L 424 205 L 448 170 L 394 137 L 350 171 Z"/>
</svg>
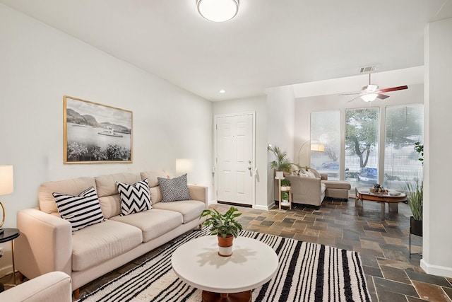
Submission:
<svg viewBox="0 0 452 302">
<path fill-rule="evenodd" d="M 267 98 L 246 98 L 213 103 L 213 115 L 256 112 L 256 209 L 267 209 Z"/>
</svg>

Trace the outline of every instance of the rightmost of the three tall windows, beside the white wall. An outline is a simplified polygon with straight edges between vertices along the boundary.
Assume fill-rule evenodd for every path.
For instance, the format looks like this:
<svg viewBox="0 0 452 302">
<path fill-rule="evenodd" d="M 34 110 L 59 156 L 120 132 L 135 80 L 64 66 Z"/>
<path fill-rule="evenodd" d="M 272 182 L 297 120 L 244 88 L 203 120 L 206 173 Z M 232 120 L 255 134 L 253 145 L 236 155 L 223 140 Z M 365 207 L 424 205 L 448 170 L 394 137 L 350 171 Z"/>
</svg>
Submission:
<svg viewBox="0 0 452 302">
<path fill-rule="evenodd" d="M 423 141 L 424 106 L 388 107 L 385 124 L 383 186 L 405 190 L 407 182 L 422 178 L 422 163 L 414 146 Z"/>
</svg>

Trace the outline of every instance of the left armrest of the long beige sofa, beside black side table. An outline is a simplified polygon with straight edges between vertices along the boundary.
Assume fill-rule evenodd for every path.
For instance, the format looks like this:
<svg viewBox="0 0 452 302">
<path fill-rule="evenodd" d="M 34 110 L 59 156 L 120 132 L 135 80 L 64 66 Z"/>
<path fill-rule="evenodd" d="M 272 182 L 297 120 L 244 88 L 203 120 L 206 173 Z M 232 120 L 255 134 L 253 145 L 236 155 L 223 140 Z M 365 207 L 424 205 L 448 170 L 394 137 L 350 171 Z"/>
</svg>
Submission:
<svg viewBox="0 0 452 302">
<path fill-rule="evenodd" d="M 72 227 L 69 221 L 38 209 L 17 213 L 20 236 L 15 240 L 17 268 L 28 279 L 61 271 L 71 276 Z"/>
</svg>

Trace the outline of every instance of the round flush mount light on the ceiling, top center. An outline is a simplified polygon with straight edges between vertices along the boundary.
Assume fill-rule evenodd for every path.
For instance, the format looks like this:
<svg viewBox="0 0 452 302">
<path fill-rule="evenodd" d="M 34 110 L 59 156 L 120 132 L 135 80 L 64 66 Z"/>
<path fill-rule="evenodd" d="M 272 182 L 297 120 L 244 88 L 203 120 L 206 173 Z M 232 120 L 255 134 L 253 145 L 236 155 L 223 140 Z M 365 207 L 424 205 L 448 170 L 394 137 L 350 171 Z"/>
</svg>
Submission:
<svg viewBox="0 0 452 302">
<path fill-rule="evenodd" d="M 239 0 L 197 0 L 198 12 L 207 20 L 225 22 L 237 15 Z"/>
</svg>

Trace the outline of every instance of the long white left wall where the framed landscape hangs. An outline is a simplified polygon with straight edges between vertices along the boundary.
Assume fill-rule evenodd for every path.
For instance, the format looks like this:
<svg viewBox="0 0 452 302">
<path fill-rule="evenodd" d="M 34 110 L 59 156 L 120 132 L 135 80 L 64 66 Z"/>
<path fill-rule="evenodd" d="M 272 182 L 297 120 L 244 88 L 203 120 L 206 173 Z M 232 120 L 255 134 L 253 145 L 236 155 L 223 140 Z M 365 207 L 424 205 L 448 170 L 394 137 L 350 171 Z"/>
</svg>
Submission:
<svg viewBox="0 0 452 302">
<path fill-rule="evenodd" d="M 47 180 L 174 171 L 176 158 L 193 158 L 189 182 L 210 184 L 210 101 L 3 4 L 0 41 L 0 165 L 14 165 L 14 192 L 1 196 L 4 227 L 37 206 Z M 133 111 L 133 163 L 64 165 L 63 95 Z"/>
</svg>

